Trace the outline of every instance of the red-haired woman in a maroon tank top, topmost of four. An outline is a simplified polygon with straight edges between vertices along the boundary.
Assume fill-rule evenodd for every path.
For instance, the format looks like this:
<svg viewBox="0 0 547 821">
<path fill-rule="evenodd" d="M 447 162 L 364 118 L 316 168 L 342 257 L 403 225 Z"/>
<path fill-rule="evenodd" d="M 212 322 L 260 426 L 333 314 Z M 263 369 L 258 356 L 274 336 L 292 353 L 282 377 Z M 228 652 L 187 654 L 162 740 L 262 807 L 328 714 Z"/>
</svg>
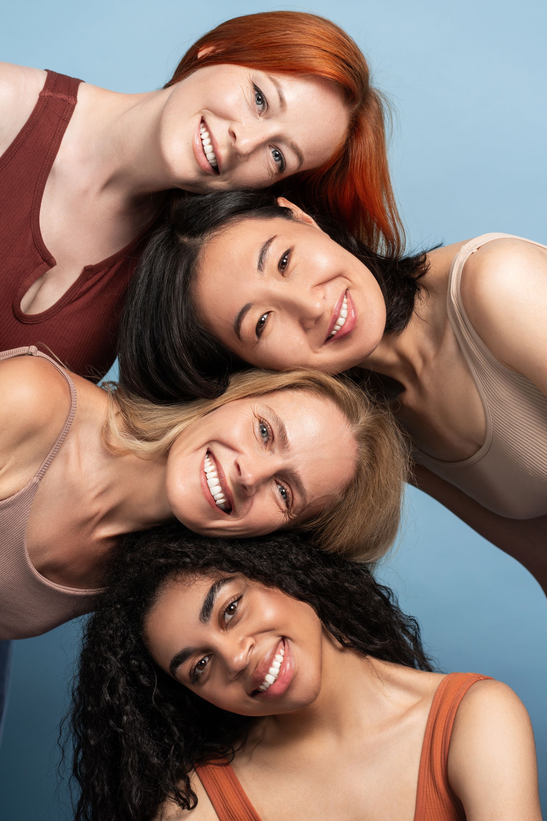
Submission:
<svg viewBox="0 0 547 821">
<path fill-rule="evenodd" d="M 145 94 L 0 65 L 0 350 L 36 345 L 101 378 L 167 192 L 267 186 L 399 247 L 381 95 L 330 21 L 226 21 Z"/>
</svg>

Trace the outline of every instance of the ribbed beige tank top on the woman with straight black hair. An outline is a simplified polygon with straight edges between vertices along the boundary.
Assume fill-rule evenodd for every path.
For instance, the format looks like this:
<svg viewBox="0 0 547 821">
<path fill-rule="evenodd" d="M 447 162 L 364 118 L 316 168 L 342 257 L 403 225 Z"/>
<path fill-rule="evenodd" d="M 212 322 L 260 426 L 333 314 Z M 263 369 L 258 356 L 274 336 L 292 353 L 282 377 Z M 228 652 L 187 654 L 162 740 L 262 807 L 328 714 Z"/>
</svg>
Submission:
<svg viewBox="0 0 547 821">
<path fill-rule="evenodd" d="M 449 322 L 481 397 L 486 437 L 470 459 L 440 461 L 417 449 L 414 459 L 499 516 L 532 519 L 547 514 L 547 397 L 522 374 L 501 365 L 472 327 L 463 307 L 463 265 L 475 251 L 509 234 L 484 234 L 463 245 L 452 260 Z M 530 242 L 547 250 L 547 245 Z M 547 357 L 547 351 L 545 351 Z"/>
</svg>

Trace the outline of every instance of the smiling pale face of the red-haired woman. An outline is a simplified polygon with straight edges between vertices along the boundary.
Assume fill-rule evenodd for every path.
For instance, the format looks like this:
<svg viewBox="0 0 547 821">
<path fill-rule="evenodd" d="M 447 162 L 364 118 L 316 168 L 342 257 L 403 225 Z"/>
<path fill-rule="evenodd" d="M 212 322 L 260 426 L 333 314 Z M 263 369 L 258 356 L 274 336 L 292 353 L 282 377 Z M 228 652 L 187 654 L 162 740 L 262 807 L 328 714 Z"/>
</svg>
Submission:
<svg viewBox="0 0 547 821">
<path fill-rule="evenodd" d="M 201 193 L 264 188 L 320 167 L 348 122 L 326 80 L 218 65 L 171 87 L 158 135 L 172 185 Z"/>
</svg>

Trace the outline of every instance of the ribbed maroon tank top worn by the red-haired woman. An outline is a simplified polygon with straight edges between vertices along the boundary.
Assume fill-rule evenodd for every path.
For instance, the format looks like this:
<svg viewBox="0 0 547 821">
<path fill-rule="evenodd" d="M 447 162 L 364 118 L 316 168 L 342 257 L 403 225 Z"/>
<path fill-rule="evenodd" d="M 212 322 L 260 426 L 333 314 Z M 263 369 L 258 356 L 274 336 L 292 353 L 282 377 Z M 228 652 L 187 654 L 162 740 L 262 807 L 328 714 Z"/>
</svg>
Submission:
<svg viewBox="0 0 547 821">
<path fill-rule="evenodd" d="M 0 157 L 0 351 L 34 345 L 98 381 L 116 359 L 121 310 L 142 237 L 86 265 L 48 310 L 21 311 L 30 285 L 56 265 L 40 233 L 40 204 L 80 82 L 48 71 L 29 120 Z"/>
</svg>

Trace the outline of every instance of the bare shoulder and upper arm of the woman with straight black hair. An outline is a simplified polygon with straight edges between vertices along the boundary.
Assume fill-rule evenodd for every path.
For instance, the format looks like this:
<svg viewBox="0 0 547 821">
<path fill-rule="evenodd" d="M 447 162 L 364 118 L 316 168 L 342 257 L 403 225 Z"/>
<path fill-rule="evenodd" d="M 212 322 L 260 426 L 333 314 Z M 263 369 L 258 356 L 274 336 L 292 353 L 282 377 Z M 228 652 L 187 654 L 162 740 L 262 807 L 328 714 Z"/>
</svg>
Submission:
<svg viewBox="0 0 547 821">
<path fill-rule="evenodd" d="M 547 250 L 509 238 L 488 242 L 467 259 L 461 288 L 485 346 L 547 395 Z"/>
</svg>

